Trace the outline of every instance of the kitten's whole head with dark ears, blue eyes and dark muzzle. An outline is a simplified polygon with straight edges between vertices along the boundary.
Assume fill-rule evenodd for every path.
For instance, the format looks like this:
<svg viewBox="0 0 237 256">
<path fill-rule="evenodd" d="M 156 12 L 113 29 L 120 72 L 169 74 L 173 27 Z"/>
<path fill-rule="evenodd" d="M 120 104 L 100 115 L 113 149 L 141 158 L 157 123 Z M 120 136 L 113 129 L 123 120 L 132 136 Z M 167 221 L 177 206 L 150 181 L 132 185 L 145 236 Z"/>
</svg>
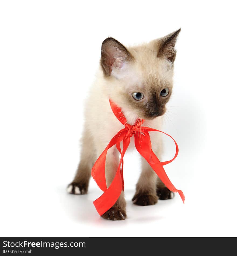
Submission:
<svg viewBox="0 0 237 256">
<path fill-rule="evenodd" d="M 123 111 L 142 119 L 165 113 L 172 93 L 179 32 L 129 48 L 111 37 L 103 41 L 101 67 L 108 81 L 106 90 Z"/>
</svg>

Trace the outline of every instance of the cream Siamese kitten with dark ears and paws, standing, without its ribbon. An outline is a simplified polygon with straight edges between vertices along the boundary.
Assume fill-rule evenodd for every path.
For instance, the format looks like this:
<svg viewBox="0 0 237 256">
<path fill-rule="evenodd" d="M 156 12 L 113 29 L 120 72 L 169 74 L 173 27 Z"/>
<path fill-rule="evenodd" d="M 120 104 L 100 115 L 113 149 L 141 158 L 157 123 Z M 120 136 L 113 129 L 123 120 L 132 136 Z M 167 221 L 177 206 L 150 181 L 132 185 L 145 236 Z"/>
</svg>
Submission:
<svg viewBox="0 0 237 256">
<path fill-rule="evenodd" d="M 87 193 L 91 169 L 113 136 L 124 126 L 114 116 L 109 98 L 122 110 L 129 124 L 138 118 L 144 126 L 162 130 L 161 116 L 166 112 L 173 87 L 175 42 L 180 29 L 160 39 L 135 47 L 125 47 L 109 37 L 102 43 L 100 68 L 85 106 L 85 127 L 81 158 L 68 192 Z M 152 150 L 161 159 L 160 133 L 150 133 Z M 130 147 L 134 146 L 133 137 Z M 119 165 L 119 151 L 110 148 L 106 157 L 106 184 L 110 186 Z M 159 199 L 171 199 L 174 194 L 161 182 L 141 157 L 142 172 L 137 182 L 133 203 L 154 205 Z M 106 213 L 104 219 L 126 218 L 124 192 Z"/>
</svg>

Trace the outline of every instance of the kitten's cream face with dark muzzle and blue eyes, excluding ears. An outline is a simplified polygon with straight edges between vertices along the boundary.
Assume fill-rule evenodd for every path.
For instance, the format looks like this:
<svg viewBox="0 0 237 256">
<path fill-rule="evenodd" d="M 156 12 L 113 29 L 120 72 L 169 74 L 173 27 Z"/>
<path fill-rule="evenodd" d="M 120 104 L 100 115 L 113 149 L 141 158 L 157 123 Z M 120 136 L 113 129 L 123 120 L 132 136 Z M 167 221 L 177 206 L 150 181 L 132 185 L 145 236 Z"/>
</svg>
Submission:
<svg viewBox="0 0 237 256">
<path fill-rule="evenodd" d="M 122 109 L 132 110 L 137 117 L 162 116 L 172 93 L 173 65 L 147 49 L 130 51 L 135 56 L 134 63 L 125 63 L 119 74 L 112 71 L 118 82 L 111 95 Z"/>
</svg>

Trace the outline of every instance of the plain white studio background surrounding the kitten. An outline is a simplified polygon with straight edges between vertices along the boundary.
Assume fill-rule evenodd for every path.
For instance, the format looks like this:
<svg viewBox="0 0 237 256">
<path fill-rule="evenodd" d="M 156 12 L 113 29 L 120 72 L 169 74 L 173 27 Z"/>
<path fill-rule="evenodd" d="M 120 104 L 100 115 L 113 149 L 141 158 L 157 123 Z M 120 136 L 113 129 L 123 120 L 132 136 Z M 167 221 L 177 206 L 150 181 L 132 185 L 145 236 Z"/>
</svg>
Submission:
<svg viewBox="0 0 237 256">
<path fill-rule="evenodd" d="M 1 236 L 236 236 L 235 10 L 234 1 L 1 1 Z M 128 153 L 128 218 L 103 220 L 93 180 L 88 195 L 66 193 L 101 43 L 180 27 L 163 131 L 179 144 L 165 169 L 186 202 L 133 205 L 140 166 Z M 175 148 L 164 140 L 168 160 Z"/>
</svg>

